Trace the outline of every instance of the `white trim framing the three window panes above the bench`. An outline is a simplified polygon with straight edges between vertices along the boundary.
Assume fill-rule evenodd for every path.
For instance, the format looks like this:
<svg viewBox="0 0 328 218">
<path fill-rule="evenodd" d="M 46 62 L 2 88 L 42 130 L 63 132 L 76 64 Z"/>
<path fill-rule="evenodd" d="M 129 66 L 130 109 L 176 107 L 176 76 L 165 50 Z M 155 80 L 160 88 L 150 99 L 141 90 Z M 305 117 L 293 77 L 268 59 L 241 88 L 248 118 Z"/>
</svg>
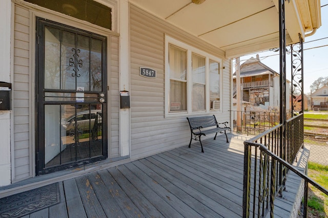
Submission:
<svg viewBox="0 0 328 218">
<path fill-rule="evenodd" d="M 175 45 L 182 49 L 187 50 L 187 111 L 182 112 L 169 112 L 170 108 L 170 72 L 169 72 L 169 44 Z M 206 110 L 204 111 L 192 111 L 192 53 L 205 57 L 206 64 Z M 210 60 L 216 61 L 220 65 L 220 110 L 211 110 L 210 108 Z M 201 114 L 213 114 L 222 112 L 222 94 L 223 94 L 223 71 L 222 71 L 222 59 L 215 57 L 207 52 L 196 49 L 186 43 L 183 43 L 168 35 L 165 36 L 165 117 L 182 117 L 186 115 L 201 115 Z"/>
</svg>

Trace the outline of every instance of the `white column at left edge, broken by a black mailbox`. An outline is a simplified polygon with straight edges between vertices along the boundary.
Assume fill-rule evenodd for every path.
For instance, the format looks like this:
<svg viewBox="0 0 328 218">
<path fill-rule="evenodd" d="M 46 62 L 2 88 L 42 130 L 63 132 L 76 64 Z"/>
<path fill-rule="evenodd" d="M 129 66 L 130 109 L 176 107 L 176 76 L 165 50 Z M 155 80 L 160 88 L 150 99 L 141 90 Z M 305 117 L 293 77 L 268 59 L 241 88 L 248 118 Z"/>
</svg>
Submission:
<svg viewBox="0 0 328 218">
<path fill-rule="evenodd" d="M 10 39 L 11 39 L 11 0 L 0 2 L 0 81 L 12 82 L 10 77 Z M 11 183 L 11 156 L 10 138 L 13 133 L 11 129 L 11 112 L 0 111 L 0 186 Z"/>
</svg>

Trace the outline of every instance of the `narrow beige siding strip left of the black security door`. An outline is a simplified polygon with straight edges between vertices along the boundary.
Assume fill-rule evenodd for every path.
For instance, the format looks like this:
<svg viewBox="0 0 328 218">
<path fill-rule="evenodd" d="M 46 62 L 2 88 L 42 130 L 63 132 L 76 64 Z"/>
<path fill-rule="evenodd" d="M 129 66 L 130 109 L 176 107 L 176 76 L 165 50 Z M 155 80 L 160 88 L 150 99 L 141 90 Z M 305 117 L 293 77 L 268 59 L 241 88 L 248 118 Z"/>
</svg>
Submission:
<svg viewBox="0 0 328 218">
<path fill-rule="evenodd" d="M 14 178 L 31 177 L 30 171 L 30 18 L 29 11 L 15 6 L 14 20 Z"/>
</svg>

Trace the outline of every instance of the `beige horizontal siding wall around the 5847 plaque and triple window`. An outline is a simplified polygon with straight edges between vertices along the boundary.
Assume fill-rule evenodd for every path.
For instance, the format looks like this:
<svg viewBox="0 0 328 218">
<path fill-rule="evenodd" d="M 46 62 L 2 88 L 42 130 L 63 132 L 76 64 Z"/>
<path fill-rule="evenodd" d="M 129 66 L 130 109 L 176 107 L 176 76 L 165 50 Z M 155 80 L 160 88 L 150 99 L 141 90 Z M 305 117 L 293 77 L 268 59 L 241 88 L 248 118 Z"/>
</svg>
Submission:
<svg viewBox="0 0 328 218">
<path fill-rule="evenodd" d="M 186 117 L 165 118 L 165 34 L 209 54 L 223 58 L 221 50 L 201 42 L 165 21 L 131 5 L 131 156 L 146 157 L 175 146 L 189 144 L 190 128 Z M 230 61 L 223 63 L 230 66 Z M 139 75 L 140 67 L 156 70 L 156 78 Z M 223 108 L 230 108 L 230 68 L 223 72 Z M 229 82 L 228 82 L 229 81 Z M 226 84 L 228 83 L 228 84 Z M 229 95 L 226 96 L 226 94 Z M 228 117 L 228 113 L 220 116 Z M 227 120 L 228 121 L 228 120 Z M 177 143 L 178 142 L 178 143 Z"/>
</svg>

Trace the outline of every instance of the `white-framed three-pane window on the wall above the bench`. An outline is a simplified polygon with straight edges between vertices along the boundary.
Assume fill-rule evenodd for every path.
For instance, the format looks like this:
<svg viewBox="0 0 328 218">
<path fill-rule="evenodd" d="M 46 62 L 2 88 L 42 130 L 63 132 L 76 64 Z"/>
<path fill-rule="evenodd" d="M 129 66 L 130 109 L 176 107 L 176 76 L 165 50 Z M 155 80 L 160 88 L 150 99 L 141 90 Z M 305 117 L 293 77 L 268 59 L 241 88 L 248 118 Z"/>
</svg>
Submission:
<svg viewBox="0 0 328 218">
<path fill-rule="evenodd" d="M 165 115 L 220 111 L 221 59 L 169 36 L 165 53 Z"/>
</svg>

